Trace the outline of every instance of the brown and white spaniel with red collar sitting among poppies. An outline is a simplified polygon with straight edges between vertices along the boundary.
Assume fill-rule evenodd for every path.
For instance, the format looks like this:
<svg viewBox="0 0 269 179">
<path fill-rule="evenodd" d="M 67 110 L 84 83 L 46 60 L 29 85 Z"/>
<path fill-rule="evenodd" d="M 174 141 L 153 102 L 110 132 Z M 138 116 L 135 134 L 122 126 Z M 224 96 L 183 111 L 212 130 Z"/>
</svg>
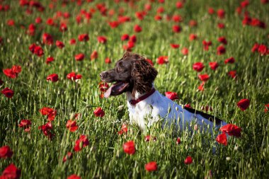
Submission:
<svg viewBox="0 0 269 179">
<path fill-rule="evenodd" d="M 155 122 L 164 120 L 163 124 L 175 123 L 180 129 L 193 130 L 196 126 L 201 131 L 219 129 L 226 122 L 205 112 L 192 108 L 183 108 L 173 100 L 166 98 L 154 88 L 158 72 L 139 54 L 126 52 L 115 64 L 114 69 L 103 71 L 101 80 L 115 82 L 105 92 L 104 97 L 118 96 L 126 93 L 130 124 L 137 124 L 142 131 Z"/>
</svg>

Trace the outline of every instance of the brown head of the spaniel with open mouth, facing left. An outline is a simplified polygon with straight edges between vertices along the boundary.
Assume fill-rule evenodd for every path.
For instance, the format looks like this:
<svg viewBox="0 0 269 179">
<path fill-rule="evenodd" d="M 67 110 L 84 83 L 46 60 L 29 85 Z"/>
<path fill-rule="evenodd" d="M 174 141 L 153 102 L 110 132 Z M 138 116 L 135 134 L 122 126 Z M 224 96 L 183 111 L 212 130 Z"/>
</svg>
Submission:
<svg viewBox="0 0 269 179">
<path fill-rule="evenodd" d="M 139 54 L 126 52 L 123 57 L 115 64 L 114 69 L 103 71 L 100 74 L 104 82 L 116 82 L 108 91 L 105 92 L 105 98 L 109 96 L 118 96 L 124 92 L 147 93 L 151 91 L 152 83 L 158 72 Z"/>
</svg>

